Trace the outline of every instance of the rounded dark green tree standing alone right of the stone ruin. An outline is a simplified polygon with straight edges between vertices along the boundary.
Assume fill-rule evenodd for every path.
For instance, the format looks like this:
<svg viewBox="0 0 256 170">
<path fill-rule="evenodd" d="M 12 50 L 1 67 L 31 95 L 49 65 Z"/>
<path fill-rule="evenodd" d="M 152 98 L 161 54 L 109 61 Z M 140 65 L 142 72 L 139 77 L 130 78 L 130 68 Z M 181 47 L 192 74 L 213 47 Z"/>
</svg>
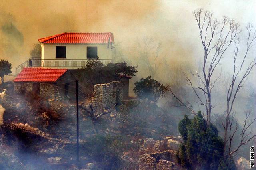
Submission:
<svg viewBox="0 0 256 170">
<path fill-rule="evenodd" d="M 142 78 L 137 81 L 134 87 L 134 93 L 140 99 L 148 99 L 150 101 L 157 101 L 160 97 L 164 96 L 164 90 L 166 87 L 159 81 L 151 78 L 151 76 Z"/>
</svg>

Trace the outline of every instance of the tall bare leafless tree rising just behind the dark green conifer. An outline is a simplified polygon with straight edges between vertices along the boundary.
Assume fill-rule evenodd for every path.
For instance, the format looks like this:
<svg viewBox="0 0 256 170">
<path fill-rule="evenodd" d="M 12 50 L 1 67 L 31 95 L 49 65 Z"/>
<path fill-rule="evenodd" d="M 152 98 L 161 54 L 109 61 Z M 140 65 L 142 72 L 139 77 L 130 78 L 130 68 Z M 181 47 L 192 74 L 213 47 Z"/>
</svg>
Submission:
<svg viewBox="0 0 256 170">
<path fill-rule="evenodd" d="M 198 103 L 205 107 L 206 121 L 208 126 L 211 122 L 211 111 L 216 105 L 212 105 L 212 89 L 218 77 L 214 78 L 214 72 L 219 65 L 224 53 L 227 51 L 234 38 L 240 33 L 239 24 L 234 20 L 223 17 L 221 21 L 213 18 L 213 12 L 198 9 L 194 11 L 194 16 L 199 28 L 200 40 L 204 49 L 202 56 L 202 70 L 192 73 L 199 79 L 199 85 L 194 86 L 190 78 L 186 77 L 188 85 L 190 85 L 198 98 Z M 169 89 L 170 90 L 170 89 Z M 203 97 L 199 92 L 203 93 Z M 181 105 L 186 105 L 181 103 Z M 192 109 L 192 105 L 186 105 Z"/>
</svg>

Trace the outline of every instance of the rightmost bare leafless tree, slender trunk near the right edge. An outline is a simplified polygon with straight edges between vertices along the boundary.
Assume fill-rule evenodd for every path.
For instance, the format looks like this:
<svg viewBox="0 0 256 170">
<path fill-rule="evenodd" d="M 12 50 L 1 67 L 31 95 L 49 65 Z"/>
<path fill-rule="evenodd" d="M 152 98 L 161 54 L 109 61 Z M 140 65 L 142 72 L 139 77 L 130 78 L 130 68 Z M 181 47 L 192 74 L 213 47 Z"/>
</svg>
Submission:
<svg viewBox="0 0 256 170">
<path fill-rule="evenodd" d="M 227 98 L 226 98 L 226 123 L 224 125 L 224 156 L 226 156 L 226 146 L 227 146 L 227 136 L 228 136 L 228 125 L 230 122 L 230 113 L 232 112 L 235 99 L 237 98 L 237 94 L 240 91 L 241 87 L 244 85 L 246 79 L 248 78 L 248 75 L 254 68 L 256 64 L 256 59 L 254 58 L 249 65 L 245 66 L 246 59 L 248 58 L 248 52 L 250 51 L 250 48 L 253 46 L 253 43 L 255 42 L 256 38 L 256 30 L 253 28 L 252 24 L 249 23 L 246 27 L 248 36 L 247 36 L 247 42 L 246 42 L 246 51 L 245 54 L 242 57 L 242 62 L 238 64 L 238 53 L 240 49 L 240 38 L 237 38 L 235 42 L 235 50 L 234 50 L 234 61 L 233 61 L 233 73 L 231 75 L 231 82 L 227 90 Z M 245 70 L 243 72 L 243 70 Z M 241 77 L 241 78 L 240 78 Z M 247 119 L 246 115 L 246 119 Z M 255 119 L 254 119 L 255 121 Z M 249 124 L 251 125 L 251 124 Z M 244 123 L 244 126 L 246 126 L 246 121 Z M 245 128 L 246 131 L 248 128 Z M 254 136 L 255 137 L 255 136 Z M 242 136 L 243 138 L 243 136 Z M 241 143 L 244 144 L 244 142 L 241 141 Z M 239 149 L 239 148 L 238 148 Z M 237 151 L 237 150 L 236 150 Z"/>
</svg>

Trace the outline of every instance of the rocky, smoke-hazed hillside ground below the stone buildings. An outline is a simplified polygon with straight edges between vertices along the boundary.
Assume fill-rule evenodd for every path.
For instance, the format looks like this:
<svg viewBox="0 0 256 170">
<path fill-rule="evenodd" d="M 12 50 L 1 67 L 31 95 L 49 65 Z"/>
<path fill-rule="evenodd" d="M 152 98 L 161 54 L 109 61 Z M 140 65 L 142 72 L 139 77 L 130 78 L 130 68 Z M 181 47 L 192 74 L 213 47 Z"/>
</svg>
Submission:
<svg viewBox="0 0 256 170">
<path fill-rule="evenodd" d="M 79 109 L 80 161 L 77 162 L 76 105 L 68 101 L 60 103 L 38 96 L 16 95 L 12 83 L 6 83 L 4 87 L 5 92 L 0 91 L 0 105 L 5 109 L 4 125 L 0 125 L 0 169 L 106 169 L 85 148 L 93 146 L 96 148 L 92 150 L 100 152 L 100 146 L 93 145 L 93 140 L 90 143 L 90 139 L 98 139 L 98 135 L 121 138 L 122 145 L 115 143 L 106 147 L 113 150 L 122 146 L 118 152 L 122 169 L 182 169 L 175 158 L 182 142 L 178 136 L 163 131 L 157 133 L 152 125 L 145 127 L 141 121 L 132 122 L 124 113 L 114 110 L 93 124 L 82 107 Z M 154 122 L 165 118 L 150 115 L 150 119 Z M 240 158 L 237 166 L 246 169 L 246 161 Z"/>
</svg>

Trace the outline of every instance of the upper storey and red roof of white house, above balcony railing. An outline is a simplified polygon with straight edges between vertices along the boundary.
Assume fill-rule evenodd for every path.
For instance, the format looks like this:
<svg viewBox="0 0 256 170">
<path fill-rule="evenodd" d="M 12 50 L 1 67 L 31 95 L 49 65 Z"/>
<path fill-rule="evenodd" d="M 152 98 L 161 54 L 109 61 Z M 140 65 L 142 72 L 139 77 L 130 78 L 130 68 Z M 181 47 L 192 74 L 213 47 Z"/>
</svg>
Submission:
<svg viewBox="0 0 256 170">
<path fill-rule="evenodd" d="M 114 36 L 106 33 L 62 33 L 40 38 L 41 59 L 100 59 L 112 60 Z"/>
</svg>

